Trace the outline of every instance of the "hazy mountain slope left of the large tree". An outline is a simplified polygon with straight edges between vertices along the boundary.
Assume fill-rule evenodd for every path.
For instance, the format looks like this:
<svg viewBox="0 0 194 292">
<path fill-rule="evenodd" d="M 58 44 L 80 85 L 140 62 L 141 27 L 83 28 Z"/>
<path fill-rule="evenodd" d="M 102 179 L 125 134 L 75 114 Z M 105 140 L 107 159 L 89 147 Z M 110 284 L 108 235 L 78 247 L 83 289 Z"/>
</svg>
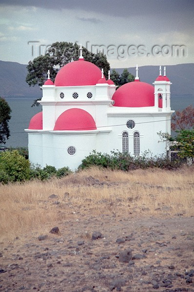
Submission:
<svg viewBox="0 0 194 292">
<path fill-rule="evenodd" d="M 41 96 L 38 86 L 29 87 L 25 82 L 27 65 L 0 61 L 0 96 L 35 97 Z"/>
</svg>

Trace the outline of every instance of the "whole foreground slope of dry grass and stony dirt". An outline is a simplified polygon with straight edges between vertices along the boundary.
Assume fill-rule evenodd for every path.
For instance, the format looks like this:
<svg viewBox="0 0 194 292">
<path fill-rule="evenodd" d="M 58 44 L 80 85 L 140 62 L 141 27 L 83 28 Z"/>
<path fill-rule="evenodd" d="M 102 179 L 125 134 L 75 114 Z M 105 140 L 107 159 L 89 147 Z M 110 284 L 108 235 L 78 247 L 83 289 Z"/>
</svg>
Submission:
<svg viewBox="0 0 194 292">
<path fill-rule="evenodd" d="M 39 184 L 41 196 L 33 183 L 2 186 L 0 291 L 194 292 L 192 178 L 191 170 L 128 176 L 93 170 Z M 13 189 L 22 200 L 15 196 L 12 207 Z M 49 233 L 54 226 L 60 235 Z M 95 231 L 101 238 L 92 239 Z"/>
</svg>

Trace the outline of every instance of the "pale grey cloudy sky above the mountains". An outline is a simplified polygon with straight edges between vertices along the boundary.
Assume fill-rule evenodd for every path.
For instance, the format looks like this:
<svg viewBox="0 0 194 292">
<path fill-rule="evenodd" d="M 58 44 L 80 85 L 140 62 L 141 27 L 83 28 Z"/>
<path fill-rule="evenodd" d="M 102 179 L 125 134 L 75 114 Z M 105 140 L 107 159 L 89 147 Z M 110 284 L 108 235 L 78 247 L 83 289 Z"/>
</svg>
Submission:
<svg viewBox="0 0 194 292">
<path fill-rule="evenodd" d="M 0 60 L 56 41 L 103 45 L 112 68 L 194 63 L 194 0 L 0 0 Z"/>
</svg>

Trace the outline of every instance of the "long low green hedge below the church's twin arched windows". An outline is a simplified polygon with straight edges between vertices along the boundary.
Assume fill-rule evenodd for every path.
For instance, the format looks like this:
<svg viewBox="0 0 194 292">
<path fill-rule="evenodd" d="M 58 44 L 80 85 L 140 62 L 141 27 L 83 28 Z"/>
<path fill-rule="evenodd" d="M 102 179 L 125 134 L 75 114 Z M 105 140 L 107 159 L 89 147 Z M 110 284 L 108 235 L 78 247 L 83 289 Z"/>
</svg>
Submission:
<svg viewBox="0 0 194 292">
<path fill-rule="evenodd" d="M 96 165 L 99 167 L 120 169 L 123 171 L 129 171 L 137 168 L 166 168 L 166 169 L 176 169 L 182 162 L 170 161 L 166 156 L 152 156 L 149 151 L 146 151 L 141 156 L 132 156 L 128 153 L 121 153 L 119 151 L 112 151 L 111 154 L 102 154 L 101 152 L 96 152 L 93 150 L 89 156 L 82 160 L 82 163 L 79 165 L 78 169 L 88 168 L 90 166 Z"/>
</svg>

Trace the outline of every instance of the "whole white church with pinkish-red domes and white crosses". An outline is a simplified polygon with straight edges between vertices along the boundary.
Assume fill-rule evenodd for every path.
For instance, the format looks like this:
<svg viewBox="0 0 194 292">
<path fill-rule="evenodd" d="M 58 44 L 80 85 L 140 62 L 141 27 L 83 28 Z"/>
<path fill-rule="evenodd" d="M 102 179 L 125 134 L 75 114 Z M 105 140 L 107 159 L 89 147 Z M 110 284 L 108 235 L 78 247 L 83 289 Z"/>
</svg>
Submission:
<svg viewBox="0 0 194 292">
<path fill-rule="evenodd" d="M 92 150 L 166 154 L 157 133 L 171 133 L 171 84 L 165 67 L 154 86 L 139 80 L 136 67 L 135 81 L 116 90 L 110 72 L 106 80 L 80 47 L 79 60 L 62 67 L 54 83 L 48 72 L 41 87 L 42 111 L 25 129 L 30 162 L 75 170 Z"/>
</svg>

